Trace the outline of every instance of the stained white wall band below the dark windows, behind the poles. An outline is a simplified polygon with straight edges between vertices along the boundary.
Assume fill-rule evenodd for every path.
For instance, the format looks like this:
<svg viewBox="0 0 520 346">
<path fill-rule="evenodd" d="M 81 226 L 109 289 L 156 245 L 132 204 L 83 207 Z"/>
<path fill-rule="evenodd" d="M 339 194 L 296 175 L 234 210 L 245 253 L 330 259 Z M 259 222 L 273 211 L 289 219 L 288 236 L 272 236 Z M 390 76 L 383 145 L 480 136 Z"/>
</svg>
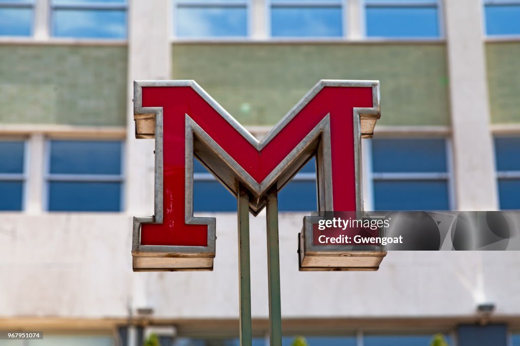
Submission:
<svg viewBox="0 0 520 346">
<path fill-rule="evenodd" d="M 302 217 L 280 215 L 283 317 L 474 316 L 484 301 L 496 316 L 520 311 L 515 251 L 394 251 L 378 272 L 299 272 Z M 133 273 L 130 216 L 3 215 L 0 316 L 124 318 L 132 304 L 156 318 L 238 318 L 236 224 L 217 215 L 213 272 Z M 267 318 L 264 216 L 251 244 L 253 317 Z"/>
</svg>

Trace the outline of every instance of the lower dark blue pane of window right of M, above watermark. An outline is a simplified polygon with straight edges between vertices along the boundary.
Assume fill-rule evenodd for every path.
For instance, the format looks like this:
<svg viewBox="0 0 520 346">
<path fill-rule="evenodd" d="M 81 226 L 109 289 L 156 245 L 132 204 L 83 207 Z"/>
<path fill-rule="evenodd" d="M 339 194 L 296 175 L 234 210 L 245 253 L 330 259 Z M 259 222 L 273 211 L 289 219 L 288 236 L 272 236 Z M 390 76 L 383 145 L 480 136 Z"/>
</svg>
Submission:
<svg viewBox="0 0 520 346">
<path fill-rule="evenodd" d="M 375 180 L 375 210 L 449 210 L 446 180 Z"/>
</svg>

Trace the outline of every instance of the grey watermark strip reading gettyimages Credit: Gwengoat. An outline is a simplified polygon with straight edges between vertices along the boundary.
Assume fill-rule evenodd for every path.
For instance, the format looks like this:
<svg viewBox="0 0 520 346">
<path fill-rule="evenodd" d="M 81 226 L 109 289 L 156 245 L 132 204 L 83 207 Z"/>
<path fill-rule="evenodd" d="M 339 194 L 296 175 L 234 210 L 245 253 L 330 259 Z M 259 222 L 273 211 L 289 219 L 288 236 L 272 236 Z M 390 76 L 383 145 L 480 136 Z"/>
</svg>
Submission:
<svg viewBox="0 0 520 346">
<path fill-rule="evenodd" d="M 326 211 L 310 219 L 318 246 L 520 250 L 520 211 Z"/>
</svg>

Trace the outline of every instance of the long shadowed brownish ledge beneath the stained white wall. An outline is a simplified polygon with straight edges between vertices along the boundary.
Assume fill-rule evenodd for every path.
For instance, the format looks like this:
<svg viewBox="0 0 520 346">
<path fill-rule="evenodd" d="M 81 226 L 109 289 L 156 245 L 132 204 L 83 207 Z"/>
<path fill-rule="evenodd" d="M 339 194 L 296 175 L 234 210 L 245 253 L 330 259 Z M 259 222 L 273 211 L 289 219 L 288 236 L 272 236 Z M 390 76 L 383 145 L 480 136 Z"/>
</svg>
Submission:
<svg viewBox="0 0 520 346">
<path fill-rule="evenodd" d="M 433 334 L 449 333 L 459 324 L 478 324 L 478 316 L 450 317 L 385 317 L 385 318 L 283 318 L 284 335 L 305 332 L 308 336 L 355 335 L 362 330 L 370 334 L 385 332 L 414 332 Z M 489 323 L 506 323 L 510 329 L 520 327 L 520 316 L 492 316 Z M 114 318 L 58 318 L 58 317 L 0 317 L 2 329 L 44 331 L 89 331 L 108 332 L 119 326 L 175 326 L 178 336 L 236 337 L 239 330 L 237 319 L 154 319 L 134 316 Z M 253 318 L 253 334 L 261 337 L 268 334 L 269 320 Z"/>
</svg>

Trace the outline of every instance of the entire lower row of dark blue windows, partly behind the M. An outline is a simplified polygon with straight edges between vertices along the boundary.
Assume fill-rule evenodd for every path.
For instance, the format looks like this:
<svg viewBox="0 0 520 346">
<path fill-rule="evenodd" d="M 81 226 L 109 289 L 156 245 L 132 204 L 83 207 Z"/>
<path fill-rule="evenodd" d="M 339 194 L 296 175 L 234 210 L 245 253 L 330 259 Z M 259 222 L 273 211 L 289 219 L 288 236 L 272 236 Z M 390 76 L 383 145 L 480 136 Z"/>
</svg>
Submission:
<svg viewBox="0 0 520 346">
<path fill-rule="evenodd" d="M 450 148 L 444 138 L 373 139 L 374 210 L 450 210 Z M 22 210 L 26 143 L 0 141 L 0 210 Z M 121 141 L 47 142 L 46 210 L 120 211 L 123 193 Z M 495 139 L 501 209 L 520 209 L 520 138 Z M 193 210 L 235 211 L 237 202 L 199 162 L 193 165 Z M 317 210 L 316 162 L 311 159 L 279 194 L 279 209 Z M 211 196 L 211 198 L 208 198 Z"/>
</svg>

